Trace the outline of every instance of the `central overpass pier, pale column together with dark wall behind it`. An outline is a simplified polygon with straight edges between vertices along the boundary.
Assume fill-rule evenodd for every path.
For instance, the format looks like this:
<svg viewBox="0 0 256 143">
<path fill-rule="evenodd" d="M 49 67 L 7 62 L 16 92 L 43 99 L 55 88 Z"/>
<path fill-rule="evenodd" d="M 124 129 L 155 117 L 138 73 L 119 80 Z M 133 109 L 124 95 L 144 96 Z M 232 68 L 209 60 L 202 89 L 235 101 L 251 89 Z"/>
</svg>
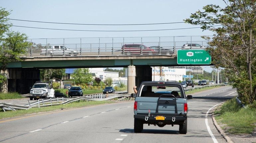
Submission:
<svg viewBox="0 0 256 143">
<path fill-rule="evenodd" d="M 134 93 L 133 86 L 139 87 L 143 81 L 152 81 L 152 68 L 150 66 L 128 66 L 127 80 L 128 94 Z"/>
</svg>

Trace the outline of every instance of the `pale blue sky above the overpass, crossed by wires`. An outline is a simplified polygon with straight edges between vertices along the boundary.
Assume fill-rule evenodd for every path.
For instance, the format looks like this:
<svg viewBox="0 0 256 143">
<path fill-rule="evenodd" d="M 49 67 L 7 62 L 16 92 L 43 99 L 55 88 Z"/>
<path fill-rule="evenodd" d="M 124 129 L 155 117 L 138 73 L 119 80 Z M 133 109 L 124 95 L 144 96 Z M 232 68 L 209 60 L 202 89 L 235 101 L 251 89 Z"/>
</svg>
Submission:
<svg viewBox="0 0 256 143">
<path fill-rule="evenodd" d="M 222 0 L 1 0 L 0 6 L 11 11 L 10 19 L 78 24 L 151 24 L 183 22 L 191 13 L 207 4 L 224 6 Z M 71 30 L 159 30 L 192 28 L 190 24 L 142 26 L 88 26 L 47 24 L 10 20 L 14 26 Z M 29 38 L 68 37 L 140 37 L 213 35 L 201 29 L 149 32 L 86 32 L 12 27 Z"/>
</svg>

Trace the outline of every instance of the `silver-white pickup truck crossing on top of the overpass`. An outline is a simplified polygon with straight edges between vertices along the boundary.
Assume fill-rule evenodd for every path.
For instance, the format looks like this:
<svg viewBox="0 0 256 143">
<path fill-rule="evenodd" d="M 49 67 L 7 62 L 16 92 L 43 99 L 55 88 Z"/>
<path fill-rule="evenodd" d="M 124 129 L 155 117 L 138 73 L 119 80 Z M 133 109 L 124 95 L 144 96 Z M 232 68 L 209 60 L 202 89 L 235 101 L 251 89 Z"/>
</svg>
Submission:
<svg viewBox="0 0 256 143">
<path fill-rule="evenodd" d="M 41 55 L 47 56 L 60 56 L 60 55 L 69 55 L 69 56 L 76 56 L 78 55 L 78 51 L 74 49 L 69 49 L 63 45 L 54 45 L 51 48 L 42 49 Z"/>
</svg>

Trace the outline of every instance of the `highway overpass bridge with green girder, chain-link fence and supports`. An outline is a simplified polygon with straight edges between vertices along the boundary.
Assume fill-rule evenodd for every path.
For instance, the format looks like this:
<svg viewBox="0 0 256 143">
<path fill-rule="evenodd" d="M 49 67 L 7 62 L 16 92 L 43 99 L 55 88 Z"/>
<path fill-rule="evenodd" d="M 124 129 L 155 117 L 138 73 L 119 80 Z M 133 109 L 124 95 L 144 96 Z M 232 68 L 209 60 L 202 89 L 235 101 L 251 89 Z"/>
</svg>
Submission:
<svg viewBox="0 0 256 143">
<path fill-rule="evenodd" d="M 152 37 L 150 37 L 152 38 Z M 6 73 L 8 81 L 1 87 L 2 91 L 7 89 L 9 92 L 19 92 L 22 94 L 27 94 L 29 87 L 35 83 L 35 81 L 40 80 L 39 69 L 46 68 L 93 68 L 93 67 L 128 67 L 128 93 L 133 92 L 132 87 L 134 85 L 139 85 L 142 81 L 152 80 L 152 70 L 151 66 L 181 66 L 177 63 L 177 50 L 181 49 L 181 46 L 177 46 L 177 43 L 188 43 L 188 42 L 198 42 L 206 43 L 207 41 L 166 41 L 163 39 L 169 39 L 170 37 L 157 37 L 158 41 L 152 40 L 151 42 L 146 42 L 144 38 L 139 37 L 140 42 L 125 42 L 124 40 L 120 43 L 114 43 L 114 38 L 112 38 L 112 43 L 97 43 L 89 44 L 90 47 L 82 46 L 80 42 L 80 47 L 77 47 L 79 43 L 75 44 L 75 47 L 70 47 L 70 44 L 64 43 L 63 45 L 78 51 L 78 54 L 71 56 L 65 54 L 49 56 L 47 54 L 41 54 L 42 49 L 47 50 L 50 45 L 48 42 L 45 46 L 42 44 L 34 44 L 28 48 L 28 53 L 22 55 L 23 61 L 11 62 L 7 65 L 9 69 Z M 175 37 L 174 37 L 175 38 Z M 138 38 L 135 38 L 138 39 Z M 46 41 L 49 39 L 46 39 Z M 101 38 L 99 38 L 99 41 Z M 65 41 L 65 39 L 64 39 Z M 102 40 L 101 40 L 102 41 Z M 136 41 L 136 40 L 135 40 Z M 147 44 L 152 46 L 163 47 L 168 51 L 164 50 L 154 50 L 153 52 L 143 52 L 143 48 L 136 52 L 131 52 L 127 54 L 122 49 L 122 45 L 125 44 Z M 176 45 L 177 44 L 177 45 Z M 35 46 L 37 45 L 37 46 Z M 60 44 L 53 44 L 60 45 Z M 84 44 L 87 45 L 88 44 Z M 102 46 L 105 45 L 105 46 Z M 183 45 L 183 44 L 182 44 Z M 193 64 L 193 65 L 209 65 L 209 64 Z M 190 64 L 183 64 L 182 66 L 190 66 Z"/>
</svg>

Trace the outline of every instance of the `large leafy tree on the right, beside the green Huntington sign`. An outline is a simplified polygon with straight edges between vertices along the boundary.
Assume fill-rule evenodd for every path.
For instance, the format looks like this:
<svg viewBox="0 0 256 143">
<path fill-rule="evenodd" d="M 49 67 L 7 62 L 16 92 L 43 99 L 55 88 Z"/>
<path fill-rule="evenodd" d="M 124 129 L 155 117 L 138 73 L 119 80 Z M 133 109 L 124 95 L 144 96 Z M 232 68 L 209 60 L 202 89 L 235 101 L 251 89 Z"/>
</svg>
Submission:
<svg viewBox="0 0 256 143">
<path fill-rule="evenodd" d="M 223 0 L 225 8 L 206 5 L 185 22 L 215 34 L 207 48 L 212 63 L 223 67 L 243 103 L 251 104 L 256 91 L 256 2 Z M 216 25 L 220 25 L 216 27 Z M 204 37 L 209 39 L 208 37 Z M 253 70 L 252 70 L 253 69 Z"/>
</svg>

